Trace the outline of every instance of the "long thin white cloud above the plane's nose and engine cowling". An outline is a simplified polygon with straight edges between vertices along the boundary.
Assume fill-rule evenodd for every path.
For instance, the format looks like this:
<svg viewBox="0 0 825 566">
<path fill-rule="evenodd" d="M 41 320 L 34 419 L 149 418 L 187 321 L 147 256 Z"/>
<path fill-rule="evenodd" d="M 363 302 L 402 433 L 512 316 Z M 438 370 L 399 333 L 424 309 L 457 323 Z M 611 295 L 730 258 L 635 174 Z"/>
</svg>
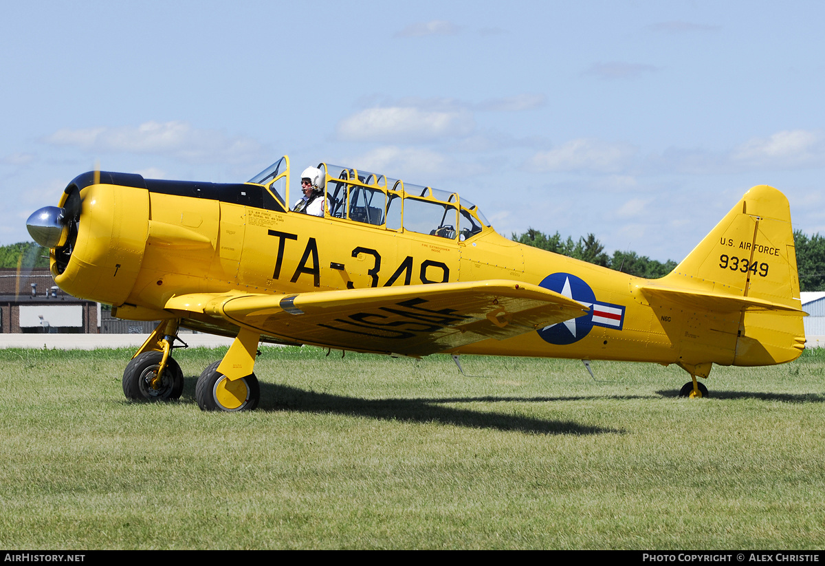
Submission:
<svg viewBox="0 0 825 566">
<path fill-rule="evenodd" d="M 138 127 L 64 128 L 44 141 L 92 152 L 172 155 L 191 163 L 246 163 L 262 153 L 254 139 L 229 138 L 218 130 L 196 129 L 177 120 L 148 121 Z"/>
</svg>

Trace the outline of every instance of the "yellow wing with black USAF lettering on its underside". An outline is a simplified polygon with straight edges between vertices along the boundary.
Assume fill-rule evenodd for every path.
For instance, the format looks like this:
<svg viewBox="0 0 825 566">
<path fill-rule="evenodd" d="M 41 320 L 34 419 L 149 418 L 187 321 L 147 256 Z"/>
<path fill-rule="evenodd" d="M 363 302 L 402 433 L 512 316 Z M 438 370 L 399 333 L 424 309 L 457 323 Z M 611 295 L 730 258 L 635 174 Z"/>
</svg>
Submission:
<svg viewBox="0 0 825 566">
<path fill-rule="evenodd" d="M 502 340 L 589 312 L 554 291 L 506 280 L 299 295 L 180 295 L 166 309 L 251 329 L 274 342 L 407 356 Z"/>
</svg>

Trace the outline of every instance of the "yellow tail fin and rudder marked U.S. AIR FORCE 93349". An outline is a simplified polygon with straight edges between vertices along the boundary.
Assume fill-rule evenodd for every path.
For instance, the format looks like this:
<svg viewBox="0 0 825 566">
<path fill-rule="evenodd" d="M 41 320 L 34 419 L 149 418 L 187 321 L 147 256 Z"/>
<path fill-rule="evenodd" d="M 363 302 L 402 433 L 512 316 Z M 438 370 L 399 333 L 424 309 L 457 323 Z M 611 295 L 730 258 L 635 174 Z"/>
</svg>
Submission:
<svg viewBox="0 0 825 566">
<path fill-rule="evenodd" d="M 656 285 L 658 284 L 658 285 Z M 735 304 L 740 321 L 733 364 L 791 361 L 804 348 L 794 231 L 788 199 L 772 186 L 747 191 L 670 274 L 654 286 L 708 297 L 708 310 Z M 712 299 L 714 298 L 715 301 Z"/>
</svg>

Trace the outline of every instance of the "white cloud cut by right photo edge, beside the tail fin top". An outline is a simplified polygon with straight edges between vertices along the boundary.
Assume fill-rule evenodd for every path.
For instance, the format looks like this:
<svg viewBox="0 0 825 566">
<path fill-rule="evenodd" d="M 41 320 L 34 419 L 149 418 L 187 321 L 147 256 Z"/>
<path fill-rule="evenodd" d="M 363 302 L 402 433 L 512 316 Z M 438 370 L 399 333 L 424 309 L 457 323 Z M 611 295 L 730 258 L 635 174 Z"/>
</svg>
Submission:
<svg viewBox="0 0 825 566">
<path fill-rule="evenodd" d="M 735 162 L 769 167 L 794 167 L 825 163 L 825 143 L 818 132 L 785 130 L 770 138 L 753 138 L 738 147 L 731 156 Z"/>
</svg>

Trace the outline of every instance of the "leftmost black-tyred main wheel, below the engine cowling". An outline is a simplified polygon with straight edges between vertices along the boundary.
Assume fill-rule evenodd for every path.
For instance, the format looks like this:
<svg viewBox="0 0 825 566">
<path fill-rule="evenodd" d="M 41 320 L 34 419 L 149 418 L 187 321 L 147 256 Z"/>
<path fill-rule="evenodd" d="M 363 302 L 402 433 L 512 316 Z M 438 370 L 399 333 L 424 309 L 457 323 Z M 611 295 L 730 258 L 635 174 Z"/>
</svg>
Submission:
<svg viewBox="0 0 825 566">
<path fill-rule="evenodd" d="M 171 357 L 158 379 L 161 351 L 144 351 L 134 356 L 123 371 L 123 394 L 132 401 L 168 401 L 183 393 L 183 371 Z"/>
</svg>

